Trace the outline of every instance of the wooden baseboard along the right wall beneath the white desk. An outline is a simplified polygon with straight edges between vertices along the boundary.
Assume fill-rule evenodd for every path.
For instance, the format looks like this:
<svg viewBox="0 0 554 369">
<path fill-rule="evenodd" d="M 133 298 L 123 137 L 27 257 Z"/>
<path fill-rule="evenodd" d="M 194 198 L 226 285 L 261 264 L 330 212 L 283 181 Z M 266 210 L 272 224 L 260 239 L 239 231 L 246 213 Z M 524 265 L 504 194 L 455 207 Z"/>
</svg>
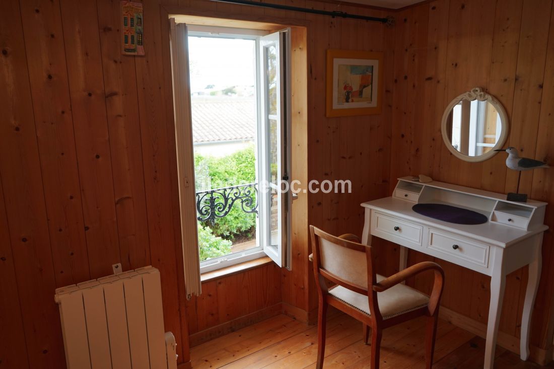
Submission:
<svg viewBox="0 0 554 369">
<path fill-rule="evenodd" d="M 440 307 L 439 316 L 441 319 L 449 321 L 461 329 L 465 329 L 476 336 L 486 338 L 486 324 L 473 320 L 470 317 L 447 309 L 443 306 Z M 496 344 L 504 347 L 506 350 L 516 353 L 517 355 L 520 354 L 520 339 L 518 337 L 499 331 Z M 549 350 L 544 350 L 540 347 L 530 345 L 530 351 L 529 360 L 536 362 L 539 365 L 546 365 L 552 361 L 552 353 Z"/>
</svg>

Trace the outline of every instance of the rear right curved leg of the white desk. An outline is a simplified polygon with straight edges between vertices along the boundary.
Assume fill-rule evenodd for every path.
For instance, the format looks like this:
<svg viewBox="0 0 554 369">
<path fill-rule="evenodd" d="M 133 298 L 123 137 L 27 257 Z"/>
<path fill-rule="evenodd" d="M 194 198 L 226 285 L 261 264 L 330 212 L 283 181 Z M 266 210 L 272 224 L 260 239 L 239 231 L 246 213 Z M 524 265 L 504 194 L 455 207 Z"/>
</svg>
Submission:
<svg viewBox="0 0 554 369">
<path fill-rule="evenodd" d="M 531 313 L 535 304 L 537 295 L 538 281 L 541 278 L 542 269 L 542 233 L 535 236 L 534 258 L 529 264 L 529 279 L 527 279 L 527 289 L 525 290 L 525 303 L 523 305 L 523 314 L 521 315 L 521 338 L 520 338 L 520 357 L 521 360 L 529 358 L 529 333 L 531 324 Z"/>
</svg>

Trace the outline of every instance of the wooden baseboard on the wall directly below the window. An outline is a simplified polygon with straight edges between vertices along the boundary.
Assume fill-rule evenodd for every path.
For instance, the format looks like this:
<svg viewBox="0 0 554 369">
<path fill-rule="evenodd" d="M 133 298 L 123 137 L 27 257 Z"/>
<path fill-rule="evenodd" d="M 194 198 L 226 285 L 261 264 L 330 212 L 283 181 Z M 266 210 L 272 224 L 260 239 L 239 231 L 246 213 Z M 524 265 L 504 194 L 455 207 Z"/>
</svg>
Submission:
<svg viewBox="0 0 554 369">
<path fill-rule="evenodd" d="M 216 337 L 226 335 L 230 332 L 244 328 L 268 319 L 272 316 L 283 314 L 282 304 L 275 304 L 273 306 L 265 307 L 264 309 L 252 312 L 251 314 L 238 317 L 237 319 L 230 320 L 223 324 L 216 325 L 206 330 L 194 333 L 189 336 L 191 347 L 203 344 L 209 340 L 213 340 Z M 181 368 L 179 368 L 181 369 Z"/>
</svg>

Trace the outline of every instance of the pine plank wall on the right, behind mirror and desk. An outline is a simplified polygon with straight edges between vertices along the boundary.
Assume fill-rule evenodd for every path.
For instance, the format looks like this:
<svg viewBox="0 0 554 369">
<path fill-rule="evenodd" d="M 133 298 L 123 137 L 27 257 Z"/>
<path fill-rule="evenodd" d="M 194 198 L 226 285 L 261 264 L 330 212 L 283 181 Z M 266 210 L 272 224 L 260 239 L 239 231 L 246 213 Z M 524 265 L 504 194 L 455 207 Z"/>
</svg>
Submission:
<svg viewBox="0 0 554 369">
<path fill-rule="evenodd" d="M 554 27 L 551 0 L 438 0 L 398 14 L 394 45 L 391 175 L 424 173 L 435 180 L 496 192 L 515 191 L 517 173 L 505 155 L 481 163 L 454 157 L 440 135 L 444 108 L 455 96 L 479 86 L 506 108 L 506 146 L 538 160 L 554 158 Z M 554 171 L 522 175 L 522 191 L 554 203 Z M 532 319 L 531 343 L 551 345 L 547 332 L 554 289 L 554 207 L 543 243 L 543 275 Z M 389 252 L 391 253 L 391 252 Z M 409 263 L 426 260 L 410 252 Z M 439 261 L 439 260 L 437 260 Z M 490 278 L 439 261 L 447 273 L 443 305 L 471 319 L 488 319 Z M 396 259 L 386 265 L 397 269 Z M 508 276 L 501 331 L 519 337 L 526 269 Z M 428 290 L 428 279 L 412 281 Z"/>
</svg>

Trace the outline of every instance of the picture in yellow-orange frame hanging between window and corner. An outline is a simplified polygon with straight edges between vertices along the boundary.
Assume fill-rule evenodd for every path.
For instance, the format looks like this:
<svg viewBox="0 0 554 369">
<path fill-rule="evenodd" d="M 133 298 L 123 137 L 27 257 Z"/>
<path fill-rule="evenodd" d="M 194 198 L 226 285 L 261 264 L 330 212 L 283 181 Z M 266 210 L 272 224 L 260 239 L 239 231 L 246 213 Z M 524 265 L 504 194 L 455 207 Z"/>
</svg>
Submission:
<svg viewBox="0 0 554 369">
<path fill-rule="evenodd" d="M 383 53 L 327 50 L 326 116 L 381 114 Z"/>
</svg>

